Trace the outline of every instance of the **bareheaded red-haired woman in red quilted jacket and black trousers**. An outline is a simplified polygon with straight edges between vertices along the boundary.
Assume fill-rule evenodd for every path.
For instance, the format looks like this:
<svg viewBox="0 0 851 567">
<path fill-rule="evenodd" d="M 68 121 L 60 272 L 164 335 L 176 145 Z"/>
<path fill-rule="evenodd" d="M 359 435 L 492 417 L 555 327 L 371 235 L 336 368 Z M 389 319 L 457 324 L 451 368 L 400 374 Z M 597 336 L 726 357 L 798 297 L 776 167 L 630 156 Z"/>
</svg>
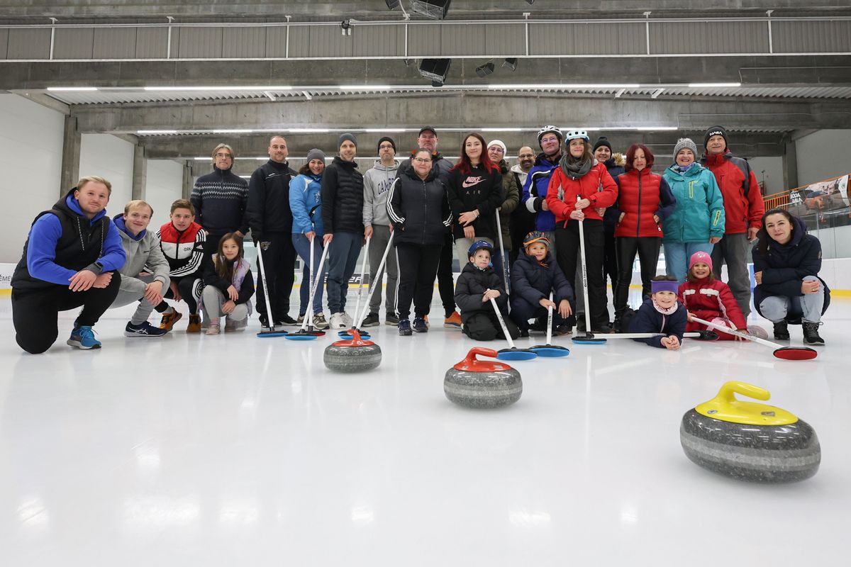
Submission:
<svg viewBox="0 0 851 567">
<path fill-rule="evenodd" d="M 650 281 L 656 275 L 662 244 L 662 221 L 677 205 L 677 199 L 661 175 L 653 168 L 653 152 L 643 144 L 626 151 L 624 173 L 616 179 L 620 212 L 614 229 L 614 252 L 618 259 L 618 283 L 614 286 L 614 331 L 626 311 L 636 253 L 641 263 L 642 301 L 650 297 Z"/>
</svg>

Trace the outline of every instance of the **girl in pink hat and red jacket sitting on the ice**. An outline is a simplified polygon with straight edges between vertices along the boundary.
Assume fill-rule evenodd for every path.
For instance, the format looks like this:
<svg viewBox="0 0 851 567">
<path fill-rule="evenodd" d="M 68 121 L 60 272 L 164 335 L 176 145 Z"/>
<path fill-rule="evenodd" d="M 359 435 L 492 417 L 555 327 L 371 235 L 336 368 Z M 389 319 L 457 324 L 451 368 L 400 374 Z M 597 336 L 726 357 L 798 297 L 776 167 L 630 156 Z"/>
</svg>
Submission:
<svg viewBox="0 0 851 567">
<path fill-rule="evenodd" d="M 736 303 L 729 286 L 712 275 L 712 258 L 706 252 L 694 252 L 688 260 L 688 274 L 680 286 L 679 296 L 683 307 L 687 309 L 686 332 L 703 331 L 706 328 L 705 325 L 693 322 L 692 315 L 747 332 L 747 322 L 739 309 L 739 303 Z M 741 340 L 726 332 L 719 332 L 718 338 L 726 341 Z"/>
</svg>

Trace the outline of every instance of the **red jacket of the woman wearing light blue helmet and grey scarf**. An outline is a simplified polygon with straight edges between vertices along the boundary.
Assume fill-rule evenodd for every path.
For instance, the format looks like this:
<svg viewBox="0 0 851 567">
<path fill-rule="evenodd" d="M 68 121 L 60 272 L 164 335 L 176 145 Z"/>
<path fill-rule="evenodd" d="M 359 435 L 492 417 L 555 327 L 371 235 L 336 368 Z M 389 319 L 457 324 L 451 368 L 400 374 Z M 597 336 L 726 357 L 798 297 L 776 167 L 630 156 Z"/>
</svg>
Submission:
<svg viewBox="0 0 851 567">
<path fill-rule="evenodd" d="M 597 162 L 580 179 L 570 179 L 561 167 L 552 171 L 546 204 L 556 216 L 556 226 L 567 224 L 570 213 L 576 210 L 577 197 L 591 201 L 591 207 L 582 210 L 585 218 L 603 220 L 595 209 L 611 207 L 618 198 L 618 185 L 603 163 Z"/>
</svg>

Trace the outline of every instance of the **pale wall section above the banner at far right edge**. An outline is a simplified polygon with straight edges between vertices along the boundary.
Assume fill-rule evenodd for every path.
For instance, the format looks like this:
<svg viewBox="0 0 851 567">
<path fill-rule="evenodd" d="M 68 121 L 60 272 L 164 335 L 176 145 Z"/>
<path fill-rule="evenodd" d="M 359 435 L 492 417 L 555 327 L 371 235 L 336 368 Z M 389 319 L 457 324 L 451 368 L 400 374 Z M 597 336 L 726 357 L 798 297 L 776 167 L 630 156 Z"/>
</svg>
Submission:
<svg viewBox="0 0 851 567">
<path fill-rule="evenodd" d="M 797 139 L 796 145 L 799 185 L 851 172 L 851 130 L 819 130 Z"/>
</svg>

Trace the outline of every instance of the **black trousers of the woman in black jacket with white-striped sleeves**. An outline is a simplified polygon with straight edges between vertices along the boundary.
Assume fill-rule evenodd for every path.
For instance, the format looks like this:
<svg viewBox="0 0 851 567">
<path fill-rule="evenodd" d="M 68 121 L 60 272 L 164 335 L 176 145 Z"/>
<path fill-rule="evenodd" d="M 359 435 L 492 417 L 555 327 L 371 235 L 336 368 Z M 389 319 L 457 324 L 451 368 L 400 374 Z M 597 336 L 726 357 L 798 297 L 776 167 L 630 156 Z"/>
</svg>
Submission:
<svg viewBox="0 0 851 567">
<path fill-rule="evenodd" d="M 434 276 L 437 275 L 443 248 L 405 242 L 396 245 L 399 267 L 396 309 L 400 320 L 410 318 L 412 300 L 415 317 L 429 314 L 431 297 L 434 295 Z"/>
</svg>

